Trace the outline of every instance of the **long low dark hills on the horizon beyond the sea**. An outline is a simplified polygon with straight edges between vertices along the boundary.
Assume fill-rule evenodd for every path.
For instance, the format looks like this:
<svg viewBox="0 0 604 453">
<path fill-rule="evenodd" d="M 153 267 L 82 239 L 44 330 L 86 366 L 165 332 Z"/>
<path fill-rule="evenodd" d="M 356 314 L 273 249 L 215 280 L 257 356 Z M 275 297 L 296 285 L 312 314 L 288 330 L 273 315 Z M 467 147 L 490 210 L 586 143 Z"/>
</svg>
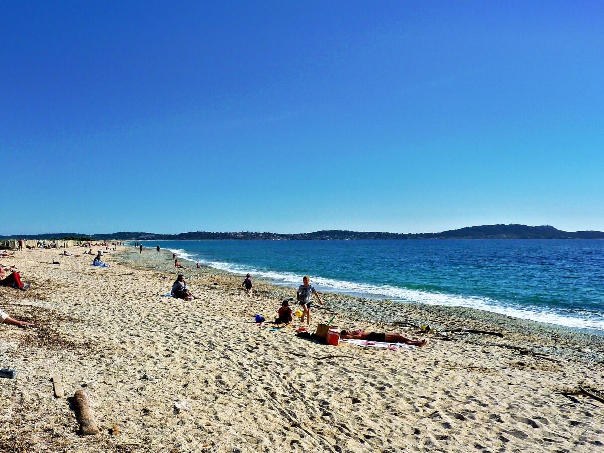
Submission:
<svg viewBox="0 0 604 453">
<path fill-rule="evenodd" d="M 384 231 L 321 230 L 312 233 L 255 233 L 251 231 L 190 231 L 179 234 L 144 233 L 141 231 L 118 231 L 118 233 L 81 234 L 45 233 L 13 234 L 0 239 L 91 239 L 105 240 L 186 240 L 186 239 L 604 239 L 604 231 L 562 231 L 553 226 L 485 225 L 466 226 L 440 233 L 387 233 Z"/>
</svg>

